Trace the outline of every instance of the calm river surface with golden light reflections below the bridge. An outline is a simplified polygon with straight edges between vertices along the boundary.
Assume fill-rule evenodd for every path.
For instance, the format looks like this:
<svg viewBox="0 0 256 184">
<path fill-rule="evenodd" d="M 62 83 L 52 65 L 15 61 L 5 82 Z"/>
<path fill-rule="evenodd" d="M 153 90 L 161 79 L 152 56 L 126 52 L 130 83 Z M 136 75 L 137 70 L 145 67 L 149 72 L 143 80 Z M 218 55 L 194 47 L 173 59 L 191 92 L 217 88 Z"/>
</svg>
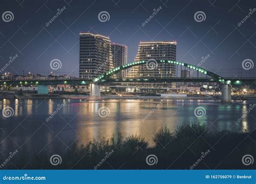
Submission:
<svg viewBox="0 0 256 184">
<path fill-rule="evenodd" d="M 255 109 L 241 121 L 239 117 L 256 101 L 235 101 L 221 104 L 208 100 L 0 100 L 1 111 L 14 109 L 13 116 L 0 117 L 0 151 L 9 153 L 16 148 L 29 153 L 68 148 L 73 142 L 86 144 L 96 139 L 142 135 L 152 145 L 152 134 L 163 126 L 174 131 L 187 123 L 206 124 L 211 131 L 241 132 L 256 128 Z M 62 107 L 62 104 L 65 104 Z M 158 107 L 152 110 L 154 107 Z M 105 107 L 109 116 L 100 117 Z M 196 117 L 194 109 L 203 107 L 206 114 Z M 57 110 L 57 109 L 60 110 Z M 49 121 L 51 114 L 58 111 Z M 145 119 L 145 117 L 147 117 Z M 143 118 L 145 121 L 143 121 Z"/>
</svg>

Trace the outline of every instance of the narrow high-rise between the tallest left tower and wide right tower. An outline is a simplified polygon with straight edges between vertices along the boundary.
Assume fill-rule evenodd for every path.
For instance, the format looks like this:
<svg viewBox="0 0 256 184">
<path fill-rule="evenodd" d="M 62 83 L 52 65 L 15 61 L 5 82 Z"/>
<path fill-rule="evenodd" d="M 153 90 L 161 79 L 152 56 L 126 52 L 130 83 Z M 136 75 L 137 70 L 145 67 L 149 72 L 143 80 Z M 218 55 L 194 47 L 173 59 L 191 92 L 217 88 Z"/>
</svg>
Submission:
<svg viewBox="0 0 256 184">
<path fill-rule="evenodd" d="M 119 67 L 127 63 L 127 46 L 122 44 L 111 43 L 113 67 Z M 127 77 L 127 69 L 116 74 L 118 79 Z"/>
</svg>

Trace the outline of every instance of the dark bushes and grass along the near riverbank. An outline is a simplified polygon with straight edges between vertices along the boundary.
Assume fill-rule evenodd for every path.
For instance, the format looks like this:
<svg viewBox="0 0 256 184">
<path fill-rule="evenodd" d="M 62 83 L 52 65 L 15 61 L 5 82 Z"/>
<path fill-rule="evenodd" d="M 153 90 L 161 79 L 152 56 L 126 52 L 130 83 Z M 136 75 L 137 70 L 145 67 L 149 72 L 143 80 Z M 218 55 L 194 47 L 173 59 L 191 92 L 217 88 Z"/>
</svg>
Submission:
<svg viewBox="0 0 256 184">
<path fill-rule="evenodd" d="M 245 166 L 242 157 L 256 158 L 256 131 L 210 133 L 199 124 L 180 126 L 175 132 L 160 129 L 154 136 L 154 147 L 140 136 L 131 135 L 91 141 L 87 145 L 73 144 L 70 150 L 41 152 L 38 155 L 18 153 L 4 169 L 255 169 Z M 111 153 L 111 154 L 110 154 Z M 206 154 L 207 153 L 207 154 Z M 62 162 L 50 164 L 52 154 L 59 154 Z M 154 154 L 157 164 L 146 163 L 147 155 Z M 108 157 L 106 158 L 106 155 Z M 204 155 L 204 158 L 202 158 Z M 199 160 L 200 159 L 200 160 Z M 1 159 L 4 160 L 3 158 Z M 15 166 L 14 166 L 15 165 Z M 192 167 L 193 166 L 193 167 Z"/>
</svg>

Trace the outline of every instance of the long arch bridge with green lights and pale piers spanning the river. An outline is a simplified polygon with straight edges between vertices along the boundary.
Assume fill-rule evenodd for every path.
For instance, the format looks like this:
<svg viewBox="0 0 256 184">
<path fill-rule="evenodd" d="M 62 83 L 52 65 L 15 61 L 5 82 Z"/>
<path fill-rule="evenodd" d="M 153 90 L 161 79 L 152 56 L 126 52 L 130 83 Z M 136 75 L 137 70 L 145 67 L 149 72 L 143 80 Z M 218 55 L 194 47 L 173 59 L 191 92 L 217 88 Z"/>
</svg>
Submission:
<svg viewBox="0 0 256 184">
<path fill-rule="evenodd" d="M 179 78 L 179 77 L 151 77 L 146 79 L 146 77 L 138 78 L 138 79 L 112 79 L 111 76 L 114 74 L 124 70 L 131 68 L 133 66 L 139 66 L 139 65 L 147 65 L 149 68 L 152 69 L 153 67 L 156 67 L 160 63 L 171 63 L 173 65 L 186 67 L 188 69 L 193 70 L 193 72 L 197 72 L 197 77 L 195 78 Z M 153 68 L 153 69 L 156 69 Z M 199 78 L 198 74 L 205 74 L 206 78 Z M 16 81 L 0 81 L 0 84 L 3 86 L 48 86 L 48 85 L 57 85 L 57 84 L 74 84 L 74 85 L 90 85 L 90 97 L 91 98 L 97 98 L 100 97 L 100 84 L 101 83 L 115 83 L 115 82 L 218 82 L 222 85 L 222 98 L 221 100 L 223 102 L 230 102 L 231 101 L 231 84 L 232 85 L 252 85 L 256 84 L 256 79 L 235 79 L 235 78 L 227 78 L 227 77 L 221 77 L 220 75 L 217 75 L 209 70 L 200 68 L 198 66 L 194 66 L 185 62 L 180 61 L 172 61 L 172 60 L 142 60 L 142 61 L 135 61 L 132 63 L 127 63 L 125 65 L 113 68 L 112 70 L 109 70 L 105 72 L 104 74 L 96 77 L 93 80 L 85 80 L 85 79 L 67 79 L 67 80 L 16 80 Z"/>
</svg>

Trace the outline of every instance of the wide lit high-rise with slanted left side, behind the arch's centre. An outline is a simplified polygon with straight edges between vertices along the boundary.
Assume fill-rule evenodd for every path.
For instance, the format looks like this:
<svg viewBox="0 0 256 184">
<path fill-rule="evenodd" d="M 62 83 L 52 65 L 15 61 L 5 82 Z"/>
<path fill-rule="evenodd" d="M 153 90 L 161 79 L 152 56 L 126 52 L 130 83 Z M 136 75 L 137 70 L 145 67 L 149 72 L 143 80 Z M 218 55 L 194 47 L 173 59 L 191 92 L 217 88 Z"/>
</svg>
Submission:
<svg viewBox="0 0 256 184">
<path fill-rule="evenodd" d="M 140 42 L 135 61 L 150 59 L 176 61 L 176 44 L 176 41 Z M 176 69 L 177 66 L 172 63 L 157 63 L 154 69 L 149 69 L 147 65 L 139 65 L 130 69 L 128 77 L 176 77 Z M 171 83 L 170 86 L 175 88 L 175 83 Z"/>
</svg>

